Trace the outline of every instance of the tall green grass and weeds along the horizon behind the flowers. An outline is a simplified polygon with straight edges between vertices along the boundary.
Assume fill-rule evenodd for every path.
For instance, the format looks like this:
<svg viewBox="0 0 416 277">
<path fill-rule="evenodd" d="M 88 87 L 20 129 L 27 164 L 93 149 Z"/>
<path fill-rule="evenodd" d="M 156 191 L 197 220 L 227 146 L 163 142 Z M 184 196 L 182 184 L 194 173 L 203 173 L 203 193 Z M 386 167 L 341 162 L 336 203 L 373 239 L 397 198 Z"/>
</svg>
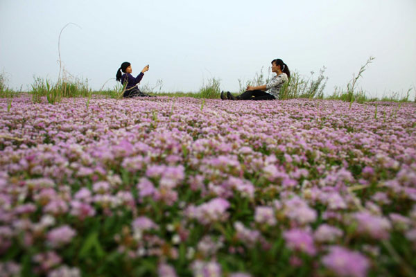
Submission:
<svg viewBox="0 0 416 277">
<path fill-rule="evenodd" d="M 410 99 L 410 92 L 412 90 L 416 91 L 415 87 L 410 87 L 406 92 L 406 95 L 400 95 L 400 93 L 395 92 L 390 96 L 382 96 L 381 98 L 371 98 L 366 95 L 365 91 L 362 89 L 357 89 L 356 84 L 358 79 L 363 77 L 363 72 L 367 69 L 374 57 L 370 57 L 361 69 L 358 71 L 357 75 L 353 75 L 352 80 L 347 84 L 347 88 L 343 89 L 336 87 L 331 95 L 324 95 L 324 88 L 327 84 L 328 78 L 325 77 L 325 66 L 320 69 L 318 75 L 311 71 L 309 77 L 301 75 L 297 71 L 291 72 L 291 79 L 284 87 L 281 89 L 281 94 L 279 100 L 287 100 L 293 98 L 308 98 L 308 99 L 333 99 L 333 100 L 343 100 L 346 102 L 369 102 L 369 101 L 394 101 L 394 102 L 408 102 Z M 54 104 L 55 102 L 60 102 L 62 98 L 88 98 L 90 99 L 92 95 L 101 95 L 109 98 L 122 98 L 125 87 L 121 84 L 117 84 L 112 89 L 99 89 L 98 91 L 93 91 L 89 88 L 88 80 L 76 78 L 62 71 L 62 78 L 59 78 L 58 82 L 53 82 L 49 79 L 40 78 L 34 76 L 34 82 L 31 84 L 31 90 L 26 91 L 32 96 L 33 102 L 42 102 L 42 98 L 46 98 L 47 102 Z M 270 78 L 270 72 L 268 77 L 263 73 L 263 69 L 260 72 L 254 75 L 254 78 L 251 80 L 243 81 L 239 79 L 239 91 L 235 93 L 242 93 L 245 91 L 245 88 L 250 86 L 257 86 L 260 84 L 265 84 Z M 110 79 L 112 80 L 112 79 Z M 8 78 L 6 78 L 5 73 L 0 75 L 0 98 L 12 98 L 17 96 L 22 91 L 13 91 L 7 86 Z M 193 97 L 193 98 L 220 98 L 221 91 L 221 80 L 219 78 L 209 78 L 205 81 L 200 87 L 198 92 L 164 92 L 162 91 L 163 81 L 157 80 L 155 86 L 150 86 L 150 84 L 141 84 L 140 89 L 145 93 L 148 93 L 153 96 L 171 96 L 171 97 Z M 414 99 L 416 102 L 416 97 Z"/>
</svg>

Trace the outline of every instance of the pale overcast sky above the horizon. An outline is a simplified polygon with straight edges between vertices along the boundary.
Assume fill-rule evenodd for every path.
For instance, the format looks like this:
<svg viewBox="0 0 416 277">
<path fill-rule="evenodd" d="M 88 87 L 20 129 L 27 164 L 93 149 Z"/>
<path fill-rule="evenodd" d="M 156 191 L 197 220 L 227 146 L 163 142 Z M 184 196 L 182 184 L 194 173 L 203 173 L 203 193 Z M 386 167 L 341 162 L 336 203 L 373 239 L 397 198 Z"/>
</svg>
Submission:
<svg viewBox="0 0 416 277">
<path fill-rule="evenodd" d="M 309 77 L 326 66 L 326 93 L 346 87 L 370 56 L 358 88 L 381 97 L 416 87 L 415 0 L 85 1 L 0 0 L 0 71 L 9 87 L 65 69 L 100 89 L 121 62 L 141 84 L 198 91 L 209 78 L 239 90 L 281 58 Z M 105 87 L 114 87 L 115 79 Z M 412 91 L 412 97 L 415 91 Z"/>
</svg>

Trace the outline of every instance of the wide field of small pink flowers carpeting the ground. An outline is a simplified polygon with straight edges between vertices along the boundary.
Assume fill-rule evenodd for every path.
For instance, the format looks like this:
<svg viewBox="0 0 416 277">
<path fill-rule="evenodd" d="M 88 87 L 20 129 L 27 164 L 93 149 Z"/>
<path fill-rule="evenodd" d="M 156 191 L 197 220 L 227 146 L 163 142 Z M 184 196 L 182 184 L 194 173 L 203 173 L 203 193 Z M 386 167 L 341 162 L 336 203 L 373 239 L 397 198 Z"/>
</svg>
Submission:
<svg viewBox="0 0 416 277">
<path fill-rule="evenodd" d="M 0 276 L 415 276 L 413 103 L 12 101 Z"/>
</svg>

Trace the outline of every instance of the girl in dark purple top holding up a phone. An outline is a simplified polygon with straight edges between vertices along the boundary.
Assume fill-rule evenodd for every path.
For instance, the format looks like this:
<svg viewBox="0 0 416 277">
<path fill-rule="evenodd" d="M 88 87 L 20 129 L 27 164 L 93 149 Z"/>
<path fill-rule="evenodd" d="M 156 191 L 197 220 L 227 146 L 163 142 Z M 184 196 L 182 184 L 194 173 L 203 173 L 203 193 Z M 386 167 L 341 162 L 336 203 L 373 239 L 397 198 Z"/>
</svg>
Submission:
<svg viewBox="0 0 416 277">
<path fill-rule="evenodd" d="M 144 76 L 144 73 L 149 70 L 149 65 L 144 66 L 144 69 L 140 72 L 137 77 L 133 77 L 132 73 L 132 66 L 130 62 L 123 62 L 117 70 L 116 73 L 116 80 L 120 81 L 121 84 L 125 84 L 125 89 L 123 92 L 123 97 L 137 97 L 137 96 L 149 96 L 146 93 L 143 93 L 140 91 L 140 89 L 137 87 L 137 84 L 141 81 L 141 79 Z M 123 71 L 123 75 L 121 75 L 121 72 Z"/>
</svg>

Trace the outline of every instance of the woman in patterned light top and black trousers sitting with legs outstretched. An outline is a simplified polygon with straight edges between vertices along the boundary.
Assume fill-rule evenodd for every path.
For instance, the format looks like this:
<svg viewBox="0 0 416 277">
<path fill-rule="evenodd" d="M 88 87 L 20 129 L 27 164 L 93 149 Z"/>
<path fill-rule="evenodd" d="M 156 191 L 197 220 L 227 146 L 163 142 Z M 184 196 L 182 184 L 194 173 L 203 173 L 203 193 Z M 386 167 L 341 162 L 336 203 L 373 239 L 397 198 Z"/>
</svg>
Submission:
<svg viewBox="0 0 416 277">
<path fill-rule="evenodd" d="M 279 98 L 280 89 L 291 78 L 291 72 L 288 66 L 280 59 L 272 60 L 272 72 L 276 73 L 276 75 L 266 84 L 257 87 L 248 86 L 247 90 L 239 96 L 233 96 L 227 91 L 227 98 L 225 98 L 224 92 L 221 91 L 221 99 L 274 100 Z"/>
</svg>

